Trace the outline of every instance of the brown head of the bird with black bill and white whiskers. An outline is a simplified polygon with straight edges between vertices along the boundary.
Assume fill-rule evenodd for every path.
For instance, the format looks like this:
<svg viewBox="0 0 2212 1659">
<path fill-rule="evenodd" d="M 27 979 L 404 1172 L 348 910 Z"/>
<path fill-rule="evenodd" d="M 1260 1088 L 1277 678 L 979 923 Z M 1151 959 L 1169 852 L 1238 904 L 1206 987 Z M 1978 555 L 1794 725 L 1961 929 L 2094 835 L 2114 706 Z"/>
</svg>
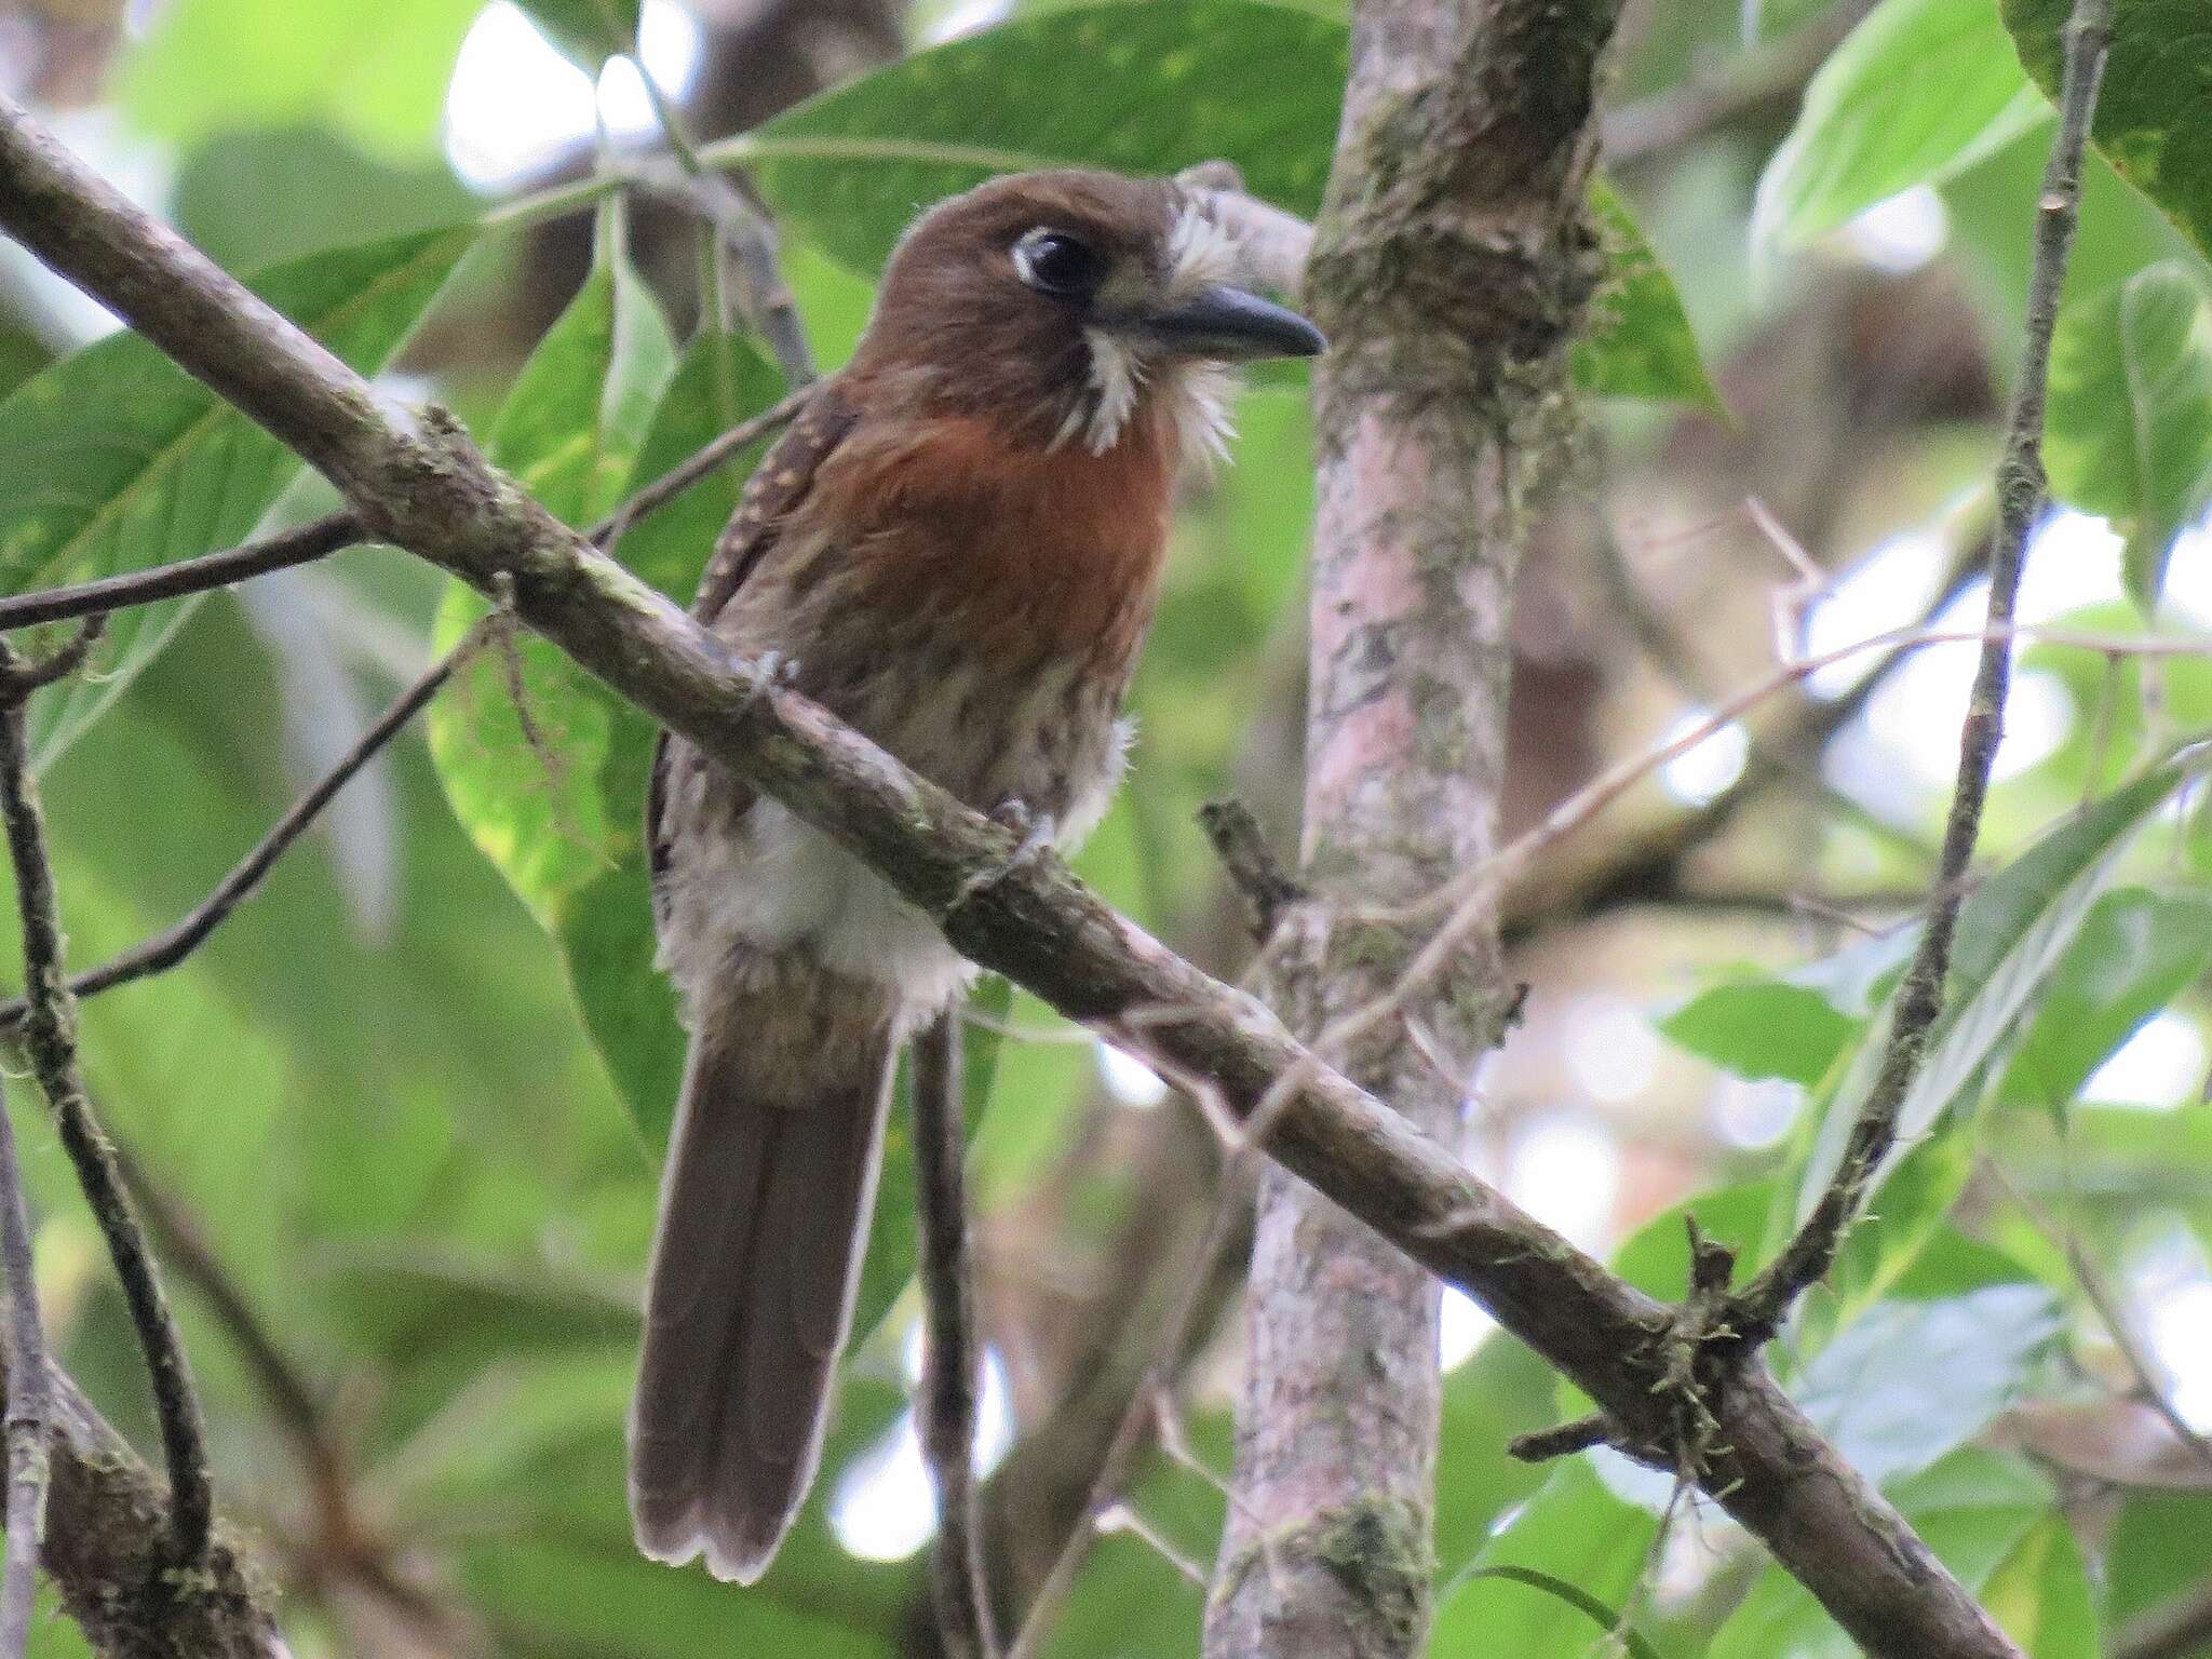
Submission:
<svg viewBox="0 0 2212 1659">
<path fill-rule="evenodd" d="M 1177 184 L 1018 173 L 914 223 L 854 367 L 1024 445 L 1219 447 L 1223 365 L 1323 349 L 1303 316 L 1234 285 L 1234 265 L 1203 197 Z"/>
</svg>

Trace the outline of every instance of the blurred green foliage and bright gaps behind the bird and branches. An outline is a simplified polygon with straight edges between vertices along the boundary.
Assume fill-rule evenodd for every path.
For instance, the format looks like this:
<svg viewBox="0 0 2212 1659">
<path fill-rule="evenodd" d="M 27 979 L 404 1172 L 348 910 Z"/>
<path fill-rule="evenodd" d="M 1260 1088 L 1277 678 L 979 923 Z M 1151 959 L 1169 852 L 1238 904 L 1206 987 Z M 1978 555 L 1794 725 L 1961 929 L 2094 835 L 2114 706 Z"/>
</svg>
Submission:
<svg viewBox="0 0 2212 1659">
<path fill-rule="evenodd" d="M 2000 389 L 2013 374 L 2064 9 L 1882 0 L 1807 86 L 1721 97 L 1717 115 L 1593 192 L 1610 281 L 1575 356 L 1590 438 L 1562 465 L 1568 487 L 1533 535 L 1515 717 L 1531 726 L 1515 732 L 1515 779 L 1537 783 L 1509 785 L 1509 816 L 1533 821 L 1686 703 L 1767 672 L 1772 549 L 1739 557 L 1710 529 L 1714 513 L 1772 498 L 1809 540 L 1805 526 L 1818 526 L 1814 555 L 1840 568 L 1889 538 L 1942 531 L 1949 520 L 1920 522 L 1927 504 L 1986 478 L 1989 398 L 1933 398 L 1916 376 L 1947 352 Z M 135 188 L 230 268 L 261 272 L 272 303 L 347 361 L 387 369 L 394 396 L 449 400 L 553 511 L 588 524 L 781 385 L 757 343 L 699 303 L 688 226 L 573 188 L 593 133 L 549 144 L 546 177 L 518 179 L 504 201 L 462 188 L 442 124 L 476 108 L 480 126 L 526 126 L 542 113 L 531 100 L 555 84 L 544 64 L 515 60 L 495 66 L 500 86 L 449 88 L 482 11 L 480 0 L 170 0 L 142 33 L 117 35 L 106 80 L 82 93 L 97 119 L 77 119 L 71 139 L 137 168 Z M 628 0 L 522 11 L 568 91 L 575 73 L 555 53 L 595 69 L 641 15 Z M 1259 195 L 1314 212 L 1336 137 L 1343 11 L 1332 0 L 1020 4 L 949 42 L 916 33 L 898 64 L 838 62 L 832 86 L 750 133 L 730 135 L 712 108 L 695 117 L 708 155 L 745 166 L 776 212 L 810 341 L 836 365 L 914 208 L 998 168 L 1223 157 Z M 1825 4 L 1637 11 L 1624 102 L 1725 93 Z M 2212 1113 L 2194 1084 L 2168 1113 L 2112 1093 L 2146 1029 L 2183 1033 L 2205 1064 L 2212 825 L 2188 743 L 2212 730 L 2212 664 L 2126 646 L 2146 626 L 2194 644 L 2205 624 L 2197 566 L 2212 540 L 2194 526 L 2212 500 L 2201 119 L 2212 35 L 2194 27 L 2192 0 L 2119 0 L 2117 20 L 2048 456 L 2059 498 L 2106 515 L 2124 555 L 2093 595 L 2057 584 L 2070 597 L 2039 615 L 2055 611 L 2064 637 L 2022 650 L 2024 681 L 2055 697 L 2055 730 L 1993 796 L 1907 1146 L 1829 1290 L 1776 1347 L 1785 1385 L 2035 1659 L 2110 1650 L 2135 1621 L 2212 1593 L 2212 1500 L 2146 1475 L 2081 1502 L 2086 1478 L 2035 1440 L 2024 1411 L 2093 1411 L 2132 1387 L 2077 1261 L 2119 1285 L 2148 1329 L 2157 1287 L 2205 1285 L 2212 1254 Z M 710 55 L 732 38 L 703 22 L 699 44 Z M 1902 263 L 1893 254 L 1865 252 L 1858 219 L 1900 192 L 1924 217 L 1936 210 L 1940 243 L 1909 274 L 1882 265 Z M 602 201 L 588 246 L 582 215 L 546 221 L 586 197 Z M 126 334 L 86 345 L 86 327 L 51 285 L 0 265 L 0 588 L 164 564 L 327 507 L 325 489 L 212 394 Z M 1301 385 L 1263 378 L 1243 400 L 1232 465 L 1188 491 L 1133 692 L 1135 783 L 1079 860 L 1135 920 L 1223 969 L 1241 933 L 1192 810 L 1239 787 L 1270 825 L 1294 812 L 1314 511 Z M 1712 418 L 1723 403 L 1741 427 Z M 626 524 L 617 557 L 688 597 L 750 465 Z M 1807 478 L 1847 500 L 1823 513 Z M 1703 515 L 1705 529 L 1679 531 L 1694 557 L 1630 549 L 1703 686 L 1681 661 L 1630 657 L 1626 602 L 1590 575 L 1588 538 L 1577 540 L 1584 515 L 1606 515 L 1624 542 L 1648 522 L 1655 546 Z M 2086 557 L 2079 546 L 2051 538 L 2033 575 Z M 122 617 L 100 672 L 40 708 L 73 960 L 106 958 L 197 902 L 369 710 L 480 615 L 434 573 L 358 551 L 241 599 Z M 1599 690 L 1575 690 L 1584 681 Z M 312 706 L 303 686 L 319 688 Z M 1825 757 L 1794 757 L 1787 781 L 1743 803 L 1708 849 L 1712 874 L 1814 902 L 1770 905 L 1787 911 L 1774 922 L 1756 907 L 1717 918 L 1661 896 L 1604 927 L 1559 925 L 1515 960 L 1535 984 L 1531 1026 L 1498 1057 L 1495 1086 L 1484 1073 L 1469 1155 L 1511 1183 L 1546 1130 L 1599 1121 L 1624 1179 L 1590 1239 L 1617 1245 L 1617 1267 L 1657 1296 L 1683 1292 L 1686 1217 L 1745 1270 L 1765 1259 L 1865 1097 L 1942 810 L 1938 792 L 1900 794 L 1898 723 L 1878 717 L 1880 697 Z M 637 1559 L 622 1416 L 681 1064 L 672 998 L 650 967 L 639 847 L 650 726 L 526 639 L 478 655 L 427 723 L 429 743 L 383 757 L 347 814 L 184 969 L 84 1011 L 117 1137 L 307 1378 L 312 1431 L 345 1471 L 347 1548 L 369 1540 L 387 1575 L 383 1588 L 349 1575 L 358 1562 L 316 1506 L 299 1425 L 281 1422 L 237 1332 L 177 1272 L 223 1502 L 288 1588 L 292 1648 L 303 1659 L 403 1641 L 668 1659 L 931 1652 L 920 1559 L 849 1548 L 896 1531 L 872 1533 L 891 1511 L 911 1520 L 918 1480 L 900 1462 L 911 1460 L 914 1312 L 905 1130 L 867 1259 L 872 1334 L 776 1571 L 739 1593 Z M 1931 714 L 1909 708 L 1905 726 L 1916 723 Z M 1849 772 L 1851 743 L 1876 745 L 1887 790 L 1865 765 Z M 1546 770 L 1562 754 L 1566 781 Z M 1584 834 L 1613 832 L 1599 821 Z M 1860 885 L 1874 896 L 1851 900 Z M 1829 887 L 1843 898 L 1823 909 Z M 1838 909 L 1849 925 L 1832 920 Z M 1626 1044 L 1586 1040 L 1566 1018 L 1544 1029 L 1593 987 L 1639 998 L 1672 1044 L 1626 1095 L 1584 1071 L 1590 1048 Z M 1095 1409 L 1084 1389 L 1108 1369 L 1102 1356 L 1121 1352 L 1099 1312 L 1117 1305 L 1117 1276 L 1150 1276 L 1119 1332 L 1141 1356 L 1148 1310 L 1161 1285 L 1181 1287 L 1179 1241 L 1210 1199 L 1201 1181 L 1168 1194 L 1135 1172 L 1157 1179 L 1141 1152 L 1183 1104 L 1119 1102 L 1095 1046 L 1002 984 L 975 1013 L 984 1307 L 1026 1436 L 1009 1469 L 1051 1469 L 1077 1458 L 1079 1407 Z M 97 1239 L 20 1093 L 49 1318 L 73 1374 L 146 1444 Z M 1725 1102 L 1747 1093 L 1781 1102 L 1778 1139 L 1745 1146 L 1725 1128 Z M 1593 1179 L 1577 1164 L 1577 1183 Z M 1221 1358 L 1194 1365 L 1186 1407 L 1188 1449 L 1217 1469 L 1230 1458 Z M 1617 1458 L 1544 1471 L 1504 1453 L 1513 1433 L 1575 1407 L 1500 1338 L 1447 1376 L 1438 1659 L 1588 1652 L 1593 1608 L 1666 1659 L 1849 1652 L 1794 1582 L 1663 1478 Z M 1064 1444 L 1037 1444 L 1053 1433 Z M 1009 1502 L 1051 1509 L 1040 1491 Z M 1208 1478 L 1155 1458 L 1133 1506 L 1172 1548 L 1210 1559 L 1223 1500 Z M 896 1540 L 869 1548 L 898 1553 Z M 1194 1652 L 1199 1613 L 1199 1588 L 1119 1531 L 1099 1542 L 1053 1652 Z M 40 1652 L 82 1644 L 55 1619 Z"/>
</svg>

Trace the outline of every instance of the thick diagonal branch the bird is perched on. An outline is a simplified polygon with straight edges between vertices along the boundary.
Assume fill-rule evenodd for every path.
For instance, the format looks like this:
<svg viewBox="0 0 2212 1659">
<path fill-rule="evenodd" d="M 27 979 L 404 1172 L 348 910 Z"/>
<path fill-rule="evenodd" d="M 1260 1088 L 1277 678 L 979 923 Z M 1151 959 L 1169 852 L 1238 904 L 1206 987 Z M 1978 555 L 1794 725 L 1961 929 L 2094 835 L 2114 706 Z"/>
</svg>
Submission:
<svg viewBox="0 0 2212 1659">
<path fill-rule="evenodd" d="M 526 626 L 863 858 L 964 956 L 1073 1020 L 1141 1033 L 1166 1068 L 1206 1079 L 1239 1117 L 1274 1097 L 1270 1157 L 1663 1438 L 1650 1385 L 1666 1307 L 1316 1062 L 1254 998 L 1161 947 L 1057 860 L 1018 856 L 1004 827 L 737 657 L 491 471 L 449 416 L 396 425 L 361 376 L 4 100 L 0 226 L 292 445 L 380 538 L 484 595 L 511 591 Z M 2017 1659 L 1756 1358 L 1728 1374 L 1714 1413 L 1701 1484 L 1876 1659 Z"/>
</svg>

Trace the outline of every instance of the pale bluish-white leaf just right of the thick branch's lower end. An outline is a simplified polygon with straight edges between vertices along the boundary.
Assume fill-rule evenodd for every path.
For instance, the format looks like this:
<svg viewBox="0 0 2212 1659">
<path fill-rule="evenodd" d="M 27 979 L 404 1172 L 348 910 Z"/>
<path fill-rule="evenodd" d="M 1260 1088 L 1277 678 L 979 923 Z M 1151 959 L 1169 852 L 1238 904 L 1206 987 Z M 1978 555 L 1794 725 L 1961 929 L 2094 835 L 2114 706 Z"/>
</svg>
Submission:
<svg viewBox="0 0 2212 1659">
<path fill-rule="evenodd" d="M 2044 1285 L 1885 1301 L 1823 1347 L 1790 1394 L 1876 1486 L 1913 1475 L 2020 1398 L 2062 1327 Z"/>
</svg>

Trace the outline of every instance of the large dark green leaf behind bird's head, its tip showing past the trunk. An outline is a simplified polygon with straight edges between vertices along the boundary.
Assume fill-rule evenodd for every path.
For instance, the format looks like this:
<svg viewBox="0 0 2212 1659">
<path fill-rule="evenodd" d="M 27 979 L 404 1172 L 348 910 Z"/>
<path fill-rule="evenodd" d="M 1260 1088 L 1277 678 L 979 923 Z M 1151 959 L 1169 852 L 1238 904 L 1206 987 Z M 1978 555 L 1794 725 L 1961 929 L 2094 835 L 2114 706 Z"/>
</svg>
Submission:
<svg viewBox="0 0 2212 1659">
<path fill-rule="evenodd" d="M 1312 217 L 1336 146 L 1347 33 L 1272 0 L 1053 7 L 951 40 L 717 146 L 776 215 L 854 270 L 889 259 L 918 206 L 995 173 L 1175 173 L 1234 161 Z M 1619 197 L 1593 217 L 1613 263 L 1575 378 L 1604 396 L 1719 407 L 1681 299 Z"/>
</svg>

